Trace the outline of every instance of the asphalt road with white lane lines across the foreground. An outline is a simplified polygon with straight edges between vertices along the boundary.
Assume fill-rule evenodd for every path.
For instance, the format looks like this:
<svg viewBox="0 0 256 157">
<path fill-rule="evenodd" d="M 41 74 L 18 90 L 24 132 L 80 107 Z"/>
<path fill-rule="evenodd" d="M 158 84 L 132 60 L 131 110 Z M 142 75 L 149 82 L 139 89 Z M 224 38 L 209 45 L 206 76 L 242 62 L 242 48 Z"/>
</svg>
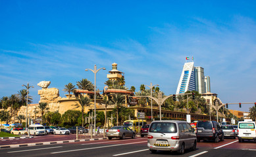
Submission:
<svg viewBox="0 0 256 157">
<path fill-rule="evenodd" d="M 256 156 L 256 142 L 238 143 L 238 139 L 225 139 L 220 143 L 205 141 L 197 143 L 197 150 L 186 150 L 185 154 L 158 151 L 151 154 L 147 149 L 147 138 L 84 141 L 36 147 L 3 148 L 0 156 Z"/>
</svg>

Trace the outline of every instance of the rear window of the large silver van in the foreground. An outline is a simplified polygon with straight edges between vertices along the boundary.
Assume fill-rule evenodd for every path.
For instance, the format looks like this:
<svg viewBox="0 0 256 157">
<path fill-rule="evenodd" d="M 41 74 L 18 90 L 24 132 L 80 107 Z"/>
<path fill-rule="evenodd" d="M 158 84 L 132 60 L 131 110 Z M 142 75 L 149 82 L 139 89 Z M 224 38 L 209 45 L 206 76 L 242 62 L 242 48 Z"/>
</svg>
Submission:
<svg viewBox="0 0 256 157">
<path fill-rule="evenodd" d="M 176 133 L 177 126 L 172 122 L 154 122 L 149 128 L 149 132 Z"/>
</svg>

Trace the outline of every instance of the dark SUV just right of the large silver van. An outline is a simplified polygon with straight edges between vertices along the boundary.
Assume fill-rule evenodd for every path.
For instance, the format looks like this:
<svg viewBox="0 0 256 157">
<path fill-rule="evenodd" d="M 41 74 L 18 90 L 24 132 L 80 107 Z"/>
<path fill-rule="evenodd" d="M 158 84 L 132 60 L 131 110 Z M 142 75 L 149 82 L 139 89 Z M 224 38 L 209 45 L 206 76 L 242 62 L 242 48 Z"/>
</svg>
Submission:
<svg viewBox="0 0 256 157">
<path fill-rule="evenodd" d="M 196 126 L 197 142 L 202 139 L 213 139 L 216 143 L 224 141 L 224 133 L 216 121 L 198 121 Z"/>
</svg>

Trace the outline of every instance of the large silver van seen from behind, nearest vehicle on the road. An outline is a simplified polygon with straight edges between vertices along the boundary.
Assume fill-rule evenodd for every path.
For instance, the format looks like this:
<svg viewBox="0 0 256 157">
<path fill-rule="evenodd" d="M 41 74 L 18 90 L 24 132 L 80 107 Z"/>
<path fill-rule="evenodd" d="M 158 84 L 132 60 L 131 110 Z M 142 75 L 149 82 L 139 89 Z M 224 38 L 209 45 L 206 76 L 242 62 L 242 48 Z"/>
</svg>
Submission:
<svg viewBox="0 0 256 157">
<path fill-rule="evenodd" d="M 197 141 L 194 129 L 186 121 L 156 120 L 149 126 L 147 147 L 152 153 L 157 150 L 178 151 L 196 149 Z"/>
</svg>

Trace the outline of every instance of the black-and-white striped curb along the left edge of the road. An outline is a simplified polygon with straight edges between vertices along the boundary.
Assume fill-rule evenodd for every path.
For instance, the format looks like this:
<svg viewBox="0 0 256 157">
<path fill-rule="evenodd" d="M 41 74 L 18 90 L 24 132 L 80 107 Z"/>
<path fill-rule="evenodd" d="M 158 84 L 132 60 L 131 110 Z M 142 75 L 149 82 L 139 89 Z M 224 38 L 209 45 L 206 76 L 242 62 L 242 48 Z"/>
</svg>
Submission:
<svg viewBox="0 0 256 157">
<path fill-rule="evenodd" d="M 51 142 L 43 142 L 43 143 L 27 143 L 27 144 L 21 144 L 21 145 L 4 145 L 4 146 L 0 146 L 0 148 L 18 148 L 18 147 L 28 147 L 28 146 L 38 146 L 38 145 L 76 143 L 76 142 L 95 141 L 95 140 L 102 140 L 102 139 L 107 139 L 107 138 L 103 137 L 103 138 L 97 138 L 97 139 L 78 139 L 78 140 L 69 140 L 69 141 L 51 141 Z"/>
</svg>

